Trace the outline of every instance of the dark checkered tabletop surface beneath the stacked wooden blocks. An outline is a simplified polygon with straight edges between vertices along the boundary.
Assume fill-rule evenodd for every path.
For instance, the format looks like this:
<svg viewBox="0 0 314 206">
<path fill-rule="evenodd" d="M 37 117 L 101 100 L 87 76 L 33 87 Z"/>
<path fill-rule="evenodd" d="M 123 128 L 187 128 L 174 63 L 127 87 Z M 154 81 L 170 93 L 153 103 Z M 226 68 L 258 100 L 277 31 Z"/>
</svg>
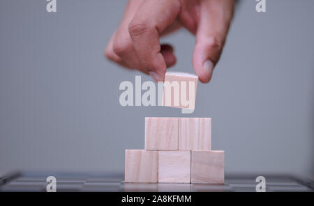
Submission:
<svg viewBox="0 0 314 206">
<path fill-rule="evenodd" d="M 22 173 L 0 187 L 0 191 L 46 191 L 45 173 Z M 124 183 L 123 174 L 54 174 L 57 191 L 106 192 L 106 191 L 235 191 L 255 192 L 257 175 L 226 175 L 225 184 L 135 184 Z M 265 175 L 266 191 L 314 191 L 313 181 L 299 180 L 287 176 Z"/>
</svg>

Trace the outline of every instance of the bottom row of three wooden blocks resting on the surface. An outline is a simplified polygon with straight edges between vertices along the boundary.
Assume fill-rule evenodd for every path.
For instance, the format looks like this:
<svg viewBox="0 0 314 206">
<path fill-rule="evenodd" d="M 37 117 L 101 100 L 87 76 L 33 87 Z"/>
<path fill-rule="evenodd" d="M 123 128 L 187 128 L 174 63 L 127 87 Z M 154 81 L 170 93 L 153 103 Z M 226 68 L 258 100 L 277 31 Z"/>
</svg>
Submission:
<svg viewBox="0 0 314 206">
<path fill-rule="evenodd" d="M 224 151 L 126 150 L 125 182 L 224 184 Z"/>
</svg>

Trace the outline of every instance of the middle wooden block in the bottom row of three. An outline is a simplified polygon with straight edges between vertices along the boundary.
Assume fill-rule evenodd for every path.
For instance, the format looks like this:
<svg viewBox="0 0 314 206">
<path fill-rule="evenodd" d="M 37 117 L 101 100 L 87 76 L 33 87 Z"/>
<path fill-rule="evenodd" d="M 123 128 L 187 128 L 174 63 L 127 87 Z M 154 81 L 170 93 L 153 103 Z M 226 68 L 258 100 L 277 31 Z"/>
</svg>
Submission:
<svg viewBox="0 0 314 206">
<path fill-rule="evenodd" d="M 190 151 L 158 151 L 158 182 L 190 183 Z"/>
</svg>

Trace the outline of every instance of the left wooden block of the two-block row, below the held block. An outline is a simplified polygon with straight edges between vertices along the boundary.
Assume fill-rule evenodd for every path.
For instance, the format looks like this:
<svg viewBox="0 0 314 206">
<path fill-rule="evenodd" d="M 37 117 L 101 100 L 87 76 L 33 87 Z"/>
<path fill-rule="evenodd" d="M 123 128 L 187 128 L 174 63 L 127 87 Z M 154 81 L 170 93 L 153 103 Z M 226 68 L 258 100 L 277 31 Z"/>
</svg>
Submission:
<svg viewBox="0 0 314 206">
<path fill-rule="evenodd" d="M 145 150 L 178 150 L 178 118 L 145 118 Z"/>
</svg>

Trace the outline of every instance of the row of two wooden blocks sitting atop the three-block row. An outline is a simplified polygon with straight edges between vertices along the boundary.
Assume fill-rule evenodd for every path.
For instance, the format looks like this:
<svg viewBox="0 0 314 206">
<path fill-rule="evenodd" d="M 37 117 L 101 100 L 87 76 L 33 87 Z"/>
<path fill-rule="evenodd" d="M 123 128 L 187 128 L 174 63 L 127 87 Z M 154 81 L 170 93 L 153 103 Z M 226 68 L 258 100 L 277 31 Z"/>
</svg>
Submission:
<svg viewBox="0 0 314 206">
<path fill-rule="evenodd" d="M 145 118 L 145 150 L 211 150 L 211 118 Z"/>
</svg>

